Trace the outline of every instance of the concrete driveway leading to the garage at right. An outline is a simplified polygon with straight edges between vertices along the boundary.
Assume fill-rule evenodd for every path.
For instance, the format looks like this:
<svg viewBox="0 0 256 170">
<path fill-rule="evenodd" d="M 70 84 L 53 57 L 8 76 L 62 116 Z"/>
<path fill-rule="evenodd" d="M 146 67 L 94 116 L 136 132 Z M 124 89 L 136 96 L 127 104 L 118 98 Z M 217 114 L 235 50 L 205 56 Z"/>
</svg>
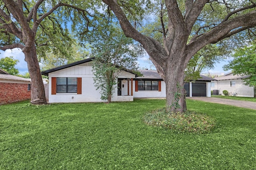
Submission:
<svg viewBox="0 0 256 170">
<path fill-rule="evenodd" d="M 204 102 L 226 104 L 237 107 L 244 107 L 248 109 L 256 109 L 256 102 L 248 102 L 243 100 L 221 99 L 221 98 L 208 98 L 208 97 L 187 97 L 190 100 L 201 100 Z"/>
</svg>

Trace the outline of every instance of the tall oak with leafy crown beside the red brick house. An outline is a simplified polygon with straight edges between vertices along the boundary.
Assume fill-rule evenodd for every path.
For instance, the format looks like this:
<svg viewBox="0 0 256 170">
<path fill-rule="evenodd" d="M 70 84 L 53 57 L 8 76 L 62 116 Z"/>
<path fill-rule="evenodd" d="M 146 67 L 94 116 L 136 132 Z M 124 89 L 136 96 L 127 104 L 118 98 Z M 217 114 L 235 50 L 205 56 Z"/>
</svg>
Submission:
<svg viewBox="0 0 256 170">
<path fill-rule="evenodd" d="M 63 8 L 57 13 L 56 10 L 62 7 L 75 10 Z M 47 47 L 53 44 L 51 50 L 68 55 L 66 52 L 70 45 L 67 44 L 72 39 L 70 39 L 68 30 L 63 29 L 62 19 L 69 16 L 70 13 L 73 16 L 78 16 L 80 15 L 79 12 L 84 16 L 84 21 L 87 22 L 89 20 L 86 17 L 88 12 L 61 0 L 2 0 L 0 2 L 0 35 L 2 36 L 0 49 L 22 49 L 31 77 L 32 103 L 46 103 L 38 64 L 38 48 L 45 47 L 39 51 L 44 55 Z"/>
</svg>

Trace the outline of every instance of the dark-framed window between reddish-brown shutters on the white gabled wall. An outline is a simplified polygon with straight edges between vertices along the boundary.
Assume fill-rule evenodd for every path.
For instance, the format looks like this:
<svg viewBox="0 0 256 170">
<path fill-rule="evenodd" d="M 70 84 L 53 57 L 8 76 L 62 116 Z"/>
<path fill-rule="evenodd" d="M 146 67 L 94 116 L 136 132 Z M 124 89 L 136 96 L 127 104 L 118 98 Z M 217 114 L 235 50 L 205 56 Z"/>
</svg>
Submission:
<svg viewBox="0 0 256 170">
<path fill-rule="evenodd" d="M 57 78 L 57 93 L 76 93 L 77 78 L 58 77 Z"/>
</svg>

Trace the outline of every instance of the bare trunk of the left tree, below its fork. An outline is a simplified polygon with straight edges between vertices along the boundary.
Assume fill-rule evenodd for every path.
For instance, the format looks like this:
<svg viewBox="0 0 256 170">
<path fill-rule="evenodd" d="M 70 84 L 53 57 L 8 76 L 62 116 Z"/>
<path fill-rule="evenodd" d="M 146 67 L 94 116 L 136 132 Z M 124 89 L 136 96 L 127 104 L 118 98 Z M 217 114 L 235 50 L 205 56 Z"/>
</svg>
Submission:
<svg viewBox="0 0 256 170">
<path fill-rule="evenodd" d="M 44 83 L 36 55 L 36 46 L 34 44 L 26 45 L 22 51 L 25 55 L 25 61 L 28 64 L 28 72 L 31 78 L 31 103 L 47 104 Z"/>
</svg>

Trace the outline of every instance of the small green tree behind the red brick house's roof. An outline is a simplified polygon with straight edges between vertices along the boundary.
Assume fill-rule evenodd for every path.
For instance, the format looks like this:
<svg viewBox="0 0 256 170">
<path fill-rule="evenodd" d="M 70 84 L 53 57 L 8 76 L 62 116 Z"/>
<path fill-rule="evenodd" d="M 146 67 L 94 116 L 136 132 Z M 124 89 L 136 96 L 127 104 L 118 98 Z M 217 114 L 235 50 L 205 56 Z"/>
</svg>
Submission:
<svg viewBox="0 0 256 170">
<path fill-rule="evenodd" d="M 15 68 L 15 65 L 19 62 L 19 60 L 14 59 L 13 57 L 4 57 L 0 59 L 0 68 L 6 70 L 11 75 L 17 75 L 19 70 Z"/>
</svg>

